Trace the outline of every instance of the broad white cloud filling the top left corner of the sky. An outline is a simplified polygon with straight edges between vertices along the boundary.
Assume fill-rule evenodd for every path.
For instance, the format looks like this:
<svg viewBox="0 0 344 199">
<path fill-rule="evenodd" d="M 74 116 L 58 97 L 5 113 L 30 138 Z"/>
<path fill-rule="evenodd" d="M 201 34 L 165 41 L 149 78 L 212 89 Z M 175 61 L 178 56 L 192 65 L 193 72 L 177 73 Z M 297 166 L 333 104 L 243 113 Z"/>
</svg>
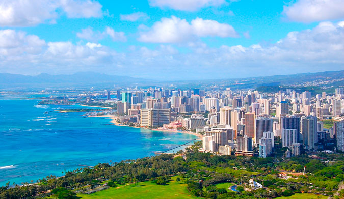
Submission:
<svg viewBox="0 0 344 199">
<path fill-rule="evenodd" d="M 91 0 L 0 0 L 0 26 L 54 23 L 59 10 L 69 18 L 102 16 L 102 5 Z"/>
</svg>

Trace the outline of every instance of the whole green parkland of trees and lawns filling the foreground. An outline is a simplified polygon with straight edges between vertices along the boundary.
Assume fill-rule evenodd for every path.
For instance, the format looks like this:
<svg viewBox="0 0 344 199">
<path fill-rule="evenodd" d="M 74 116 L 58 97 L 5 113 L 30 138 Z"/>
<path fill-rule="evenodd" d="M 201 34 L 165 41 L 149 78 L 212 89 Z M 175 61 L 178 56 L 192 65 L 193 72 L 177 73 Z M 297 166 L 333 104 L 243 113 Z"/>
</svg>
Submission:
<svg viewBox="0 0 344 199">
<path fill-rule="evenodd" d="M 282 153 L 267 158 L 217 156 L 198 152 L 200 146 L 198 142 L 178 154 L 124 160 L 111 165 L 99 163 L 94 168 L 66 172 L 63 178 L 48 176 L 31 186 L 9 187 L 8 183 L 0 189 L 0 198 L 315 199 L 344 195 L 341 189 L 339 191 L 339 184 L 344 180 L 343 154 L 320 152 L 317 159 L 306 154 L 283 159 Z M 306 175 L 303 176 L 304 166 Z M 280 171 L 289 171 L 288 175 L 295 178 L 281 179 Z M 263 188 L 252 190 L 248 184 L 250 179 Z M 236 190 L 240 192 L 228 189 L 231 185 L 237 185 Z"/>
</svg>

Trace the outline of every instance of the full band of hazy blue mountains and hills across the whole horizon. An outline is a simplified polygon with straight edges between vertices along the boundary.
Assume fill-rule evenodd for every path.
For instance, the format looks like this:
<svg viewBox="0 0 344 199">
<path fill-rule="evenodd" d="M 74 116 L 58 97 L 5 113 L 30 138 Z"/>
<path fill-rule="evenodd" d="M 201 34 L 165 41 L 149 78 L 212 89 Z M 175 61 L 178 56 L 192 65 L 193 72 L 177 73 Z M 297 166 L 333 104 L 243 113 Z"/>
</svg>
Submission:
<svg viewBox="0 0 344 199">
<path fill-rule="evenodd" d="M 325 71 L 317 73 L 299 73 L 292 75 L 274 75 L 264 77 L 249 78 L 231 78 L 231 79 L 205 79 L 205 80 L 185 80 L 173 81 L 157 81 L 154 79 L 134 78 L 130 76 L 107 75 L 95 72 L 78 72 L 72 75 L 49 75 L 41 73 L 37 76 L 19 75 L 0 73 L 1 89 L 45 89 L 45 88 L 85 88 L 85 87 L 104 87 L 114 88 L 124 86 L 147 86 L 161 85 L 164 83 L 173 83 L 184 85 L 186 87 L 200 87 L 202 84 L 222 84 L 232 88 L 257 88 L 259 86 L 275 86 L 275 85 L 295 85 L 310 81 L 326 81 L 337 79 L 337 83 L 342 82 L 344 78 L 344 70 L 341 71 Z"/>
</svg>

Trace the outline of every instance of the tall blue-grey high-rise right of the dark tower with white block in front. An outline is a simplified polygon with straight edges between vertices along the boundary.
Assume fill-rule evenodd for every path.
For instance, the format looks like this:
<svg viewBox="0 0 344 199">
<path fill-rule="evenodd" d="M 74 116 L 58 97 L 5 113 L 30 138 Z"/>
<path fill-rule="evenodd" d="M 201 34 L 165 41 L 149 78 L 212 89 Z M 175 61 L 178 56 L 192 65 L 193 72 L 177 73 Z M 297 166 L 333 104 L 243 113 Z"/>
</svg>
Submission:
<svg viewBox="0 0 344 199">
<path fill-rule="evenodd" d="M 307 116 L 302 118 L 302 137 L 303 145 L 307 149 L 314 149 L 317 143 L 317 118 Z"/>
</svg>

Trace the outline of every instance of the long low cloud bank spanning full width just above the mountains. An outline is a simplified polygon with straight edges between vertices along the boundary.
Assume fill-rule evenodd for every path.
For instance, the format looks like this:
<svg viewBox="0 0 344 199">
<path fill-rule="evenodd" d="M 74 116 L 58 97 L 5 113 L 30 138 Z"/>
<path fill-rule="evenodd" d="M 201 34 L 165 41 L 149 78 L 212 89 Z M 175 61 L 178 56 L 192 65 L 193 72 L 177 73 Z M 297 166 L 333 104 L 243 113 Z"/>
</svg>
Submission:
<svg viewBox="0 0 344 199">
<path fill-rule="evenodd" d="M 106 70 L 166 80 L 340 70 L 344 69 L 342 38 L 344 22 L 321 22 L 313 29 L 290 32 L 276 43 L 209 47 L 196 40 L 180 51 L 180 46 L 159 44 L 130 46 L 119 53 L 96 42 L 45 42 L 9 29 L 0 31 L 0 72 Z"/>
</svg>

